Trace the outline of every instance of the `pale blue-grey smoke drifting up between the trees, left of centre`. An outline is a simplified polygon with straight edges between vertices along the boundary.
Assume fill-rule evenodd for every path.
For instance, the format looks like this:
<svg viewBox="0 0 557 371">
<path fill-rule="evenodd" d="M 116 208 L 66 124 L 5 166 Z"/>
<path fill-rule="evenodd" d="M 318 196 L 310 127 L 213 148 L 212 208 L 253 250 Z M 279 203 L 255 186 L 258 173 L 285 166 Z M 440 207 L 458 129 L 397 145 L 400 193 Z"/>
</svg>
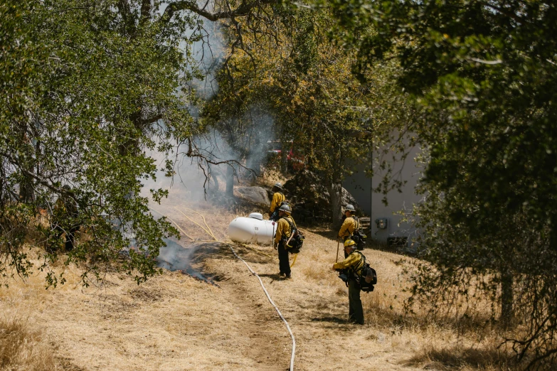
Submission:
<svg viewBox="0 0 557 371">
<path fill-rule="evenodd" d="M 200 41 L 193 45 L 183 45 L 184 53 L 186 47 L 190 48 L 189 52 L 198 63 L 195 68 L 201 70 L 205 76 L 189 83 L 202 101 L 201 104 L 191 104 L 187 107 L 191 116 L 198 122 L 203 119 L 199 117 L 203 101 L 211 99 L 218 92 L 216 74 L 226 58 L 226 45 L 218 23 L 206 21 L 202 27 L 203 38 Z M 191 138 L 191 145 L 196 154 L 202 157 L 186 156 L 190 144 L 177 146 L 169 156 L 174 161 L 174 176 L 171 178 L 166 177 L 163 170 L 166 163 L 164 154 L 149 151 L 147 154 L 154 158 L 159 171 L 156 180 L 142 179 L 142 195 L 149 197 L 149 189 L 161 188 L 169 190 L 172 202 L 176 202 L 176 206 L 205 203 L 215 195 L 225 193 L 231 177 L 233 183 L 237 184 L 238 181 L 260 175 L 260 169 L 267 159 L 267 142 L 273 139 L 275 128 L 272 114 L 266 107 L 253 104 L 239 117 L 218 122 Z M 223 163 L 226 161 L 237 161 L 240 165 Z M 253 172 L 243 167 L 253 169 Z M 157 205 L 152 206 L 157 208 Z M 171 270 L 190 269 L 189 273 L 194 275 L 190 266 L 194 247 L 184 248 L 172 240 L 165 242 L 167 246 L 162 248 L 159 254 L 159 267 Z M 204 279 L 201 275 L 198 278 Z"/>
</svg>

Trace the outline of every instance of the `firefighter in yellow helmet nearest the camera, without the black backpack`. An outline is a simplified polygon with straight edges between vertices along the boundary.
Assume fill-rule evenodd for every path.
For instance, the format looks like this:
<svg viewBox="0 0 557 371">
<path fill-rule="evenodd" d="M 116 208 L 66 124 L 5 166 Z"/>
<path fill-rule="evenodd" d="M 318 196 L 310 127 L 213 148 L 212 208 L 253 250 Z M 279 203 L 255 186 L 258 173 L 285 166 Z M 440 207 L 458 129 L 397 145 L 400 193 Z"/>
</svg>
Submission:
<svg viewBox="0 0 557 371">
<path fill-rule="evenodd" d="M 361 270 L 364 268 L 364 254 L 356 251 L 356 242 L 353 240 L 344 242 L 344 252 L 348 257 L 342 262 L 333 264 L 333 270 L 342 270 L 348 279 L 348 315 L 350 322 L 363 325 L 364 308 L 361 306 L 361 287 L 356 277 L 361 274 Z"/>
</svg>

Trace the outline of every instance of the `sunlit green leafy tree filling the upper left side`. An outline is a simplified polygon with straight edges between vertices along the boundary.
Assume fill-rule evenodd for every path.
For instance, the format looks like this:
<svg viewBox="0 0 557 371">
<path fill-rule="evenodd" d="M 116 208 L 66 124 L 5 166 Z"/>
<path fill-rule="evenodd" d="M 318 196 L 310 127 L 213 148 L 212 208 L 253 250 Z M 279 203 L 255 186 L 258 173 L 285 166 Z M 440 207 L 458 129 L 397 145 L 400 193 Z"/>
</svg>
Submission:
<svg viewBox="0 0 557 371">
<path fill-rule="evenodd" d="M 57 284 L 62 275 L 49 263 L 60 251 L 60 230 L 75 226 L 83 238 L 65 263 L 83 265 L 85 284 L 88 274 L 98 278 L 112 264 L 138 283 L 157 272 L 162 237 L 176 230 L 164 218 L 155 220 L 139 195 L 157 171 L 145 151 L 168 155 L 171 140 L 191 135 L 187 82 L 196 71 L 187 67 L 197 36 L 188 31 L 195 29 L 193 16 L 164 18 L 142 5 L 0 5 L 6 45 L 0 59 L 2 275 L 29 274 L 31 260 L 22 247 L 32 236 L 50 252 L 40 267 L 48 270 L 47 284 Z M 163 170 L 171 176 L 173 163 L 166 160 Z M 164 195 L 151 190 L 155 201 Z M 38 210 L 51 215 L 60 197 L 72 199 L 78 215 L 36 217 Z M 138 249 L 120 259 L 130 244 Z"/>
</svg>

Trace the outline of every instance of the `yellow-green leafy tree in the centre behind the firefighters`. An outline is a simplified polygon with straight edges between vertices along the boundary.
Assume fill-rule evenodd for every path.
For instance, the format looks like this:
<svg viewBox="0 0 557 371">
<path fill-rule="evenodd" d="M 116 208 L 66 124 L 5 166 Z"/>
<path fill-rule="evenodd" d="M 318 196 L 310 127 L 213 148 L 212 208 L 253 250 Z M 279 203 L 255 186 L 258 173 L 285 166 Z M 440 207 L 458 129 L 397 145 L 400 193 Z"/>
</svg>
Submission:
<svg viewBox="0 0 557 371">
<path fill-rule="evenodd" d="M 359 166 L 371 171 L 371 152 L 388 151 L 392 136 L 404 134 L 410 107 L 391 84 L 396 64 L 376 65 L 362 84 L 351 72 L 356 54 L 329 38 L 334 21 L 326 9 L 270 5 L 241 25 L 226 24 L 228 58 L 203 117 L 219 125 L 267 110 L 277 139 L 292 142 L 329 188 L 331 221 L 338 223 L 341 182 Z M 242 133 L 230 140 L 240 142 Z"/>
</svg>

